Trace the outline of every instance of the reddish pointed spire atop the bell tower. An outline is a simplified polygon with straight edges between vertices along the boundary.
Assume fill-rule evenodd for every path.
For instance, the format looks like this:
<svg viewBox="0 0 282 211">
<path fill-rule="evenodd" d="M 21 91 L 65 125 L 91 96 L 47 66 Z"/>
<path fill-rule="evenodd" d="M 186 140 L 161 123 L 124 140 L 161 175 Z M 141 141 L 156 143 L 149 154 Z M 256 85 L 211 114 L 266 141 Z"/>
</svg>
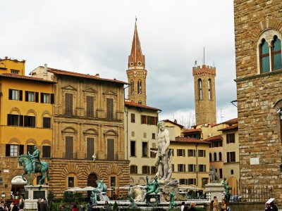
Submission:
<svg viewBox="0 0 282 211">
<path fill-rule="evenodd" d="M 136 22 L 137 22 L 137 18 L 135 16 L 135 29 L 134 29 L 134 36 L 133 36 L 133 44 L 131 47 L 130 56 L 128 56 L 128 68 L 137 66 L 137 67 L 142 67 L 145 69 L 145 56 L 142 54 Z"/>
</svg>

